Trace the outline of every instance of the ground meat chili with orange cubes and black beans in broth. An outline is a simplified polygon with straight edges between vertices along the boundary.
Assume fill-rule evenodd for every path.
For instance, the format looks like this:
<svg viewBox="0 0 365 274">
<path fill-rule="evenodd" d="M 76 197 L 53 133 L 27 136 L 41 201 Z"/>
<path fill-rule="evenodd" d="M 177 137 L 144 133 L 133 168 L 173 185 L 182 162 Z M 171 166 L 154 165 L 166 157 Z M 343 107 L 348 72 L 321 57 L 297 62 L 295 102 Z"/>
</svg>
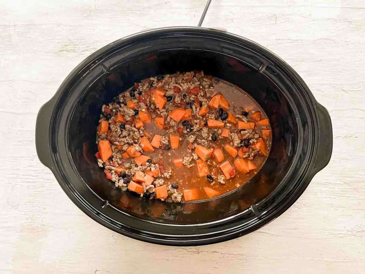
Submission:
<svg viewBox="0 0 365 274">
<path fill-rule="evenodd" d="M 173 202 L 214 198 L 264 164 L 269 119 L 238 87 L 202 71 L 135 83 L 100 114 L 97 164 L 121 190 Z"/>
</svg>

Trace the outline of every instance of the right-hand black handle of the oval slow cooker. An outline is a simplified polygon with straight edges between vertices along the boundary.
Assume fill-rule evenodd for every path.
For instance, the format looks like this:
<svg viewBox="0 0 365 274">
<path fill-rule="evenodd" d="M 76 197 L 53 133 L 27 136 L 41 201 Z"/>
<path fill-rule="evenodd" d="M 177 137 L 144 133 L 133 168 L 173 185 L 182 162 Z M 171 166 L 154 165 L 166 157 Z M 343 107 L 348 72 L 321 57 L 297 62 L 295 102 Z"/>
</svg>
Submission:
<svg viewBox="0 0 365 274">
<path fill-rule="evenodd" d="M 316 114 L 318 118 L 318 137 L 317 151 L 315 153 L 314 164 L 312 165 L 312 176 L 322 170 L 330 161 L 333 146 L 333 134 L 331 117 L 328 110 L 321 104 L 316 106 Z"/>
</svg>

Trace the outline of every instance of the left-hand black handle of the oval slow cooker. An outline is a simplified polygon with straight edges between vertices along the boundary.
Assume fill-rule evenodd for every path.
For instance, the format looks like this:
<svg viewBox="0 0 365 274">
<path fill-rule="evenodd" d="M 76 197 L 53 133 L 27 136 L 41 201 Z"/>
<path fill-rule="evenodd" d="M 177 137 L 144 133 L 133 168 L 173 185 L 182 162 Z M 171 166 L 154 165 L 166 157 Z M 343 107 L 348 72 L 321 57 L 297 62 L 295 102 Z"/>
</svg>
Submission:
<svg viewBox="0 0 365 274">
<path fill-rule="evenodd" d="M 54 109 L 55 96 L 45 103 L 38 112 L 35 122 L 35 148 L 42 164 L 53 170 L 50 146 L 50 121 Z"/>
</svg>

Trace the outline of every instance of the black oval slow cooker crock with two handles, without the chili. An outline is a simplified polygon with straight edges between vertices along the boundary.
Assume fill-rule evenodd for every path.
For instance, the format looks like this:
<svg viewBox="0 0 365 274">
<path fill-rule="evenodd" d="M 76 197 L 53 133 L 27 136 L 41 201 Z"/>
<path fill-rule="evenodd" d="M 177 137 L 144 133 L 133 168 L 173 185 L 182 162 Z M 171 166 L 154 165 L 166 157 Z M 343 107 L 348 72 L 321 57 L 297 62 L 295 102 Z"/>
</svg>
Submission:
<svg viewBox="0 0 365 274">
<path fill-rule="evenodd" d="M 264 167 L 210 201 L 141 202 L 119 191 L 93 159 L 101 105 L 135 81 L 195 69 L 243 88 L 265 110 L 273 134 Z M 114 42 L 80 64 L 39 111 L 36 143 L 42 163 L 94 220 L 136 239 L 187 246 L 244 235 L 284 212 L 328 163 L 330 129 L 327 111 L 272 53 L 216 30 L 167 28 Z"/>
</svg>

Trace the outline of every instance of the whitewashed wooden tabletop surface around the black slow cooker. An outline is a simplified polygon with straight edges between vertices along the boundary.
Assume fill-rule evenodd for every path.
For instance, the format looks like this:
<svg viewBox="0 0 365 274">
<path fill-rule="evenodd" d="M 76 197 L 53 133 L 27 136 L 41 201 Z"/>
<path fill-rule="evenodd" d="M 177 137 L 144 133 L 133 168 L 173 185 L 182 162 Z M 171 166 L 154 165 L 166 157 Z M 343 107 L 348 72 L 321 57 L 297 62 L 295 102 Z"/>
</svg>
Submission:
<svg viewBox="0 0 365 274">
<path fill-rule="evenodd" d="M 144 28 L 195 26 L 205 0 L 0 1 L 0 273 L 365 273 L 365 1 L 213 0 L 203 26 L 286 60 L 329 110 L 330 164 L 266 227 L 165 247 L 97 224 L 37 158 L 39 107 L 85 57 Z"/>
</svg>

